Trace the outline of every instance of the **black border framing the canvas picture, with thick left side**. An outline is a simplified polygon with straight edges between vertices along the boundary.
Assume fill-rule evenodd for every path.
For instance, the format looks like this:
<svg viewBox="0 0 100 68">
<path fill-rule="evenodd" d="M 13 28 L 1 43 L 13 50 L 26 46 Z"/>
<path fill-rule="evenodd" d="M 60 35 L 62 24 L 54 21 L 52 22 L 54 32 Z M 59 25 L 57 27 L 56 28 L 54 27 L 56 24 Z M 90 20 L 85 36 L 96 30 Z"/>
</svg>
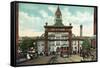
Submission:
<svg viewBox="0 0 100 68">
<path fill-rule="evenodd" d="M 96 8 L 96 60 L 95 61 L 82 61 L 82 62 L 67 62 L 67 63 L 53 63 L 53 64 L 29 64 L 29 65 L 17 65 L 16 64 L 16 4 L 17 3 L 28 3 L 28 4 L 45 4 L 45 5 L 63 5 L 63 6 L 79 6 L 79 7 L 94 7 Z M 10 65 L 13 67 L 20 66 L 40 66 L 40 65 L 57 65 L 57 64 L 71 64 L 71 63 L 89 63 L 98 62 L 98 6 L 92 5 L 74 5 L 74 4 L 60 4 L 60 3 L 43 3 L 43 2 L 27 2 L 27 1 L 12 1 L 11 6 L 11 49 L 10 49 Z"/>
</svg>

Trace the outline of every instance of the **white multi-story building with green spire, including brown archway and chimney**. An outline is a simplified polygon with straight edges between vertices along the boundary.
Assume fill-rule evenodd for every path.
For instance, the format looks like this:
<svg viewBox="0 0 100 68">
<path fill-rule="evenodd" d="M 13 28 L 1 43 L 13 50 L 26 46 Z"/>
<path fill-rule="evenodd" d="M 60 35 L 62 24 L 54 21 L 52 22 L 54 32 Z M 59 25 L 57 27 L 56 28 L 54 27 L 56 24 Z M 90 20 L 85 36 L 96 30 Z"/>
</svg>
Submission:
<svg viewBox="0 0 100 68">
<path fill-rule="evenodd" d="M 45 33 L 41 37 L 37 38 L 38 54 L 51 54 L 52 52 L 60 52 L 66 50 L 66 53 L 79 53 L 82 49 L 82 43 L 84 39 L 91 40 L 92 37 L 82 36 L 82 25 L 80 25 L 80 36 L 72 34 L 73 26 L 65 26 L 62 23 L 62 14 L 58 6 L 55 13 L 55 24 L 46 25 Z M 59 54 L 60 54 L 59 53 Z"/>
</svg>

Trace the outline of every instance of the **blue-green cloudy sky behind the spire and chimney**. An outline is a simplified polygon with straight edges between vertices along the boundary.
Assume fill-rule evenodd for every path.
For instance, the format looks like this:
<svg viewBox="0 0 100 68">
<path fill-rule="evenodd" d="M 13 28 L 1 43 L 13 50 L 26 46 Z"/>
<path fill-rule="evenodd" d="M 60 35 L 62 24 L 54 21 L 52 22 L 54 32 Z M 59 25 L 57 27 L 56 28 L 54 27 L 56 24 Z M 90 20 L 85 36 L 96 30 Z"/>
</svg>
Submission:
<svg viewBox="0 0 100 68">
<path fill-rule="evenodd" d="M 19 36 L 41 36 L 44 25 L 53 25 L 58 5 L 19 3 Z M 83 36 L 93 36 L 93 7 L 59 5 L 62 21 L 65 26 L 72 24 L 72 33 L 80 35 L 83 25 Z"/>
</svg>

